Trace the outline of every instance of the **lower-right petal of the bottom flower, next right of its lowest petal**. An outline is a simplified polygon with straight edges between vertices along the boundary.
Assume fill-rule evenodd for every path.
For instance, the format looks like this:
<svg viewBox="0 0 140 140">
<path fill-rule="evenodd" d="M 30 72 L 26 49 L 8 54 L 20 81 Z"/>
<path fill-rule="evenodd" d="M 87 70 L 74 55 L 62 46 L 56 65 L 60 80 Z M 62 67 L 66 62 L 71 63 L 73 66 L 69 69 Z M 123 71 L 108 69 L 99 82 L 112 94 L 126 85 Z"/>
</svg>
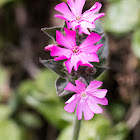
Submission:
<svg viewBox="0 0 140 140">
<path fill-rule="evenodd" d="M 92 112 L 96 114 L 100 114 L 103 112 L 102 108 L 99 105 L 97 105 L 96 102 L 94 102 L 94 98 L 92 98 L 91 96 L 87 98 L 87 104 Z"/>
</svg>

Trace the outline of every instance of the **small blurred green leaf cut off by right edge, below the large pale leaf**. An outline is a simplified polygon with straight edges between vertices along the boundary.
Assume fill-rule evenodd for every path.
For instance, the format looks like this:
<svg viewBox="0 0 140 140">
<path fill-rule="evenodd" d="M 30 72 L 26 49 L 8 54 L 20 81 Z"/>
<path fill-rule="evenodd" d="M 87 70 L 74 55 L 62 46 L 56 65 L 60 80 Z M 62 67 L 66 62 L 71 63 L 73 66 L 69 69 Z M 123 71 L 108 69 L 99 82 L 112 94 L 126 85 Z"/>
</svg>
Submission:
<svg viewBox="0 0 140 140">
<path fill-rule="evenodd" d="M 140 59 L 140 29 L 136 30 L 133 34 L 132 50 L 134 54 Z"/>
</svg>

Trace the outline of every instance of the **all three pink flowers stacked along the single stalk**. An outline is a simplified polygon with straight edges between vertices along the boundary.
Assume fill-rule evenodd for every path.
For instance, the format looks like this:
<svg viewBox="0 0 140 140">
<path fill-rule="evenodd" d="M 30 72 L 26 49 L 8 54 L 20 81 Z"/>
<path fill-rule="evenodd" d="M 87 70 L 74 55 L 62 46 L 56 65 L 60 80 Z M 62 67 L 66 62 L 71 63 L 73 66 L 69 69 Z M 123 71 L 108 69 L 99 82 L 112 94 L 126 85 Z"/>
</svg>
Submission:
<svg viewBox="0 0 140 140">
<path fill-rule="evenodd" d="M 46 46 L 45 50 L 50 51 L 50 55 L 55 57 L 54 61 L 64 60 L 68 74 L 74 70 L 78 71 L 80 66 L 94 67 L 91 62 L 99 62 L 97 51 L 103 45 L 97 45 L 101 36 L 90 31 L 90 29 L 95 28 L 94 21 L 105 15 L 104 13 L 97 13 L 102 5 L 96 2 L 82 14 L 85 1 L 67 0 L 68 5 L 62 2 L 54 8 L 61 13 L 56 14 L 55 17 L 65 20 L 68 29 L 57 30 L 55 44 Z M 78 40 L 80 37 L 83 37 L 82 41 Z M 74 83 L 72 80 L 69 81 Z M 88 86 L 87 83 L 83 83 L 80 80 L 75 80 L 76 86 L 72 83 L 68 82 L 64 88 L 64 90 L 75 93 L 66 102 L 67 105 L 64 109 L 72 113 L 76 108 L 79 120 L 82 119 L 82 113 L 85 120 L 92 119 L 94 113 L 102 113 L 102 108 L 98 104 L 108 104 L 108 100 L 105 98 L 107 90 L 97 88 L 103 83 L 91 81 Z"/>
</svg>

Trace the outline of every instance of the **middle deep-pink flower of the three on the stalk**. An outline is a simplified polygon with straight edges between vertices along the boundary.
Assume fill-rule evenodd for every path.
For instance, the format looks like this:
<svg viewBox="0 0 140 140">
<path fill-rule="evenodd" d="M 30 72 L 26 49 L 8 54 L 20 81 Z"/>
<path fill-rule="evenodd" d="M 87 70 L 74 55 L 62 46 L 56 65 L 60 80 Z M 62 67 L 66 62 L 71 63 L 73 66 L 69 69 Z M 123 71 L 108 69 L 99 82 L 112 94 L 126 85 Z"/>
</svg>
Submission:
<svg viewBox="0 0 140 140">
<path fill-rule="evenodd" d="M 51 50 L 51 56 L 58 56 L 54 60 L 67 59 L 65 65 L 69 73 L 74 66 L 77 71 L 79 65 L 93 67 L 89 62 L 99 62 L 97 50 L 103 45 L 93 45 L 101 39 L 101 36 L 96 33 L 91 33 L 84 42 L 80 45 L 76 45 L 76 31 L 64 29 L 66 37 L 61 34 L 60 31 L 56 31 L 56 41 L 64 48 L 53 46 Z"/>
</svg>

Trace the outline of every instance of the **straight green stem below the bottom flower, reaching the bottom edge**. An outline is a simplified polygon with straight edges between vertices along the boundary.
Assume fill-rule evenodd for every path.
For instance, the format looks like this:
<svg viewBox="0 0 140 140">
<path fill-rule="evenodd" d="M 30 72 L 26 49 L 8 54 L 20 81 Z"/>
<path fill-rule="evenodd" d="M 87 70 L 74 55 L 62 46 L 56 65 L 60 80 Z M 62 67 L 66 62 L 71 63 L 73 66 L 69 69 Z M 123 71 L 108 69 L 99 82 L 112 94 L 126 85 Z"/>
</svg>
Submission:
<svg viewBox="0 0 140 140">
<path fill-rule="evenodd" d="M 72 140 L 78 140 L 79 132 L 80 132 L 81 120 L 78 120 L 77 115 L 74 121 L 74 129 L 73 129 L 73 137 Z"/>
</svg>

